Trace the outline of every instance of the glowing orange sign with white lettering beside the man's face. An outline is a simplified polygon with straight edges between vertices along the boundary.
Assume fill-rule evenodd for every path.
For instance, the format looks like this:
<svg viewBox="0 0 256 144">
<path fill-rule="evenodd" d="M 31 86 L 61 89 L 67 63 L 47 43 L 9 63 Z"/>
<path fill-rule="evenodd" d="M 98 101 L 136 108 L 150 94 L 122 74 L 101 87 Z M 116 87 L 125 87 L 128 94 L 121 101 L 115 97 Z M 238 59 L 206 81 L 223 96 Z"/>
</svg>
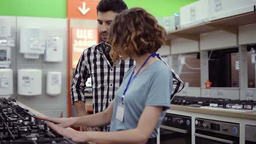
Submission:
<svg viewBox="0 0 256 144">
<path fill-rule="evenodd" d="M 77 67 L 83 51 L 98 43 L 98 30 L 96 28 L 72 28 L 72 68 Z"/>
</svg>

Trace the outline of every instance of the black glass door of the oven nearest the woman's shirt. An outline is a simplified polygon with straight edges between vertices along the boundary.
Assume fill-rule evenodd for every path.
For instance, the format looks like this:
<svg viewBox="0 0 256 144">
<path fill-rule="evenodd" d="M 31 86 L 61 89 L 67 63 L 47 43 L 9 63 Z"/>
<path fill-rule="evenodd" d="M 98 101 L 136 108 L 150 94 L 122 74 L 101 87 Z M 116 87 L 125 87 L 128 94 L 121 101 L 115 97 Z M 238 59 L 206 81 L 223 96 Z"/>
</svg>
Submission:
<svg viewBox="0 0 256 144">
<path fill-rule="evenodd" d="M 187 129 L 179 129 L 166 125 L 160 125 L 160 143 L 191 144 L 191 131 Z"/>
</svg>

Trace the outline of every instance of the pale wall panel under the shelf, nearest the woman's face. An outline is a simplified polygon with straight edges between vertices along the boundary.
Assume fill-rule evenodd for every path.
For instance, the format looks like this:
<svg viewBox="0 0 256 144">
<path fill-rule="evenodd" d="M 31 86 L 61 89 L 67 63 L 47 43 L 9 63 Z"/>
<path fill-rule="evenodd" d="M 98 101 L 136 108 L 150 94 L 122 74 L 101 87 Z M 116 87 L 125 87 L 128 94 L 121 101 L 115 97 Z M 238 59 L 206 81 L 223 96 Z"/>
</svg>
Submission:
<svg viewBox="0 0 256 144">
<path fill-rule="evenodd" d="M 171 41 L 171 53 L 179 54 L 179 53 L 190 53 L 190 52 L 198 52 L 199 51 L 199 42 L 195 40 L 189 39 L 173 39 Z"/>
</svg>

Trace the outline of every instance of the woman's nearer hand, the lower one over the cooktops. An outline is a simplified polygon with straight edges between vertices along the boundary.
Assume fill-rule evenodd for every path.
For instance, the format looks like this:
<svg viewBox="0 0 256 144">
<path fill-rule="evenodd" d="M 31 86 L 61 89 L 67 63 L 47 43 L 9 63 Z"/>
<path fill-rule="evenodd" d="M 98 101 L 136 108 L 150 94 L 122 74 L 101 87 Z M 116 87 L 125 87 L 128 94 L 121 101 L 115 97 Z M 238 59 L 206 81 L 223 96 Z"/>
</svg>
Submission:
<svg viewBox="0 0 256 144">
<path fill-rule="evenodd" d="M 77 131 L 73 129 L 65 129 L 63 127 L 60 127 L 58 124 L 48 124 L 48 127 L 56 131 L 58 134 L 68 137 L 72 141 L 75 141 L 75 142 L 88 141 L 88 136 L 86 135 L 86 132 Z"/>
</svg>

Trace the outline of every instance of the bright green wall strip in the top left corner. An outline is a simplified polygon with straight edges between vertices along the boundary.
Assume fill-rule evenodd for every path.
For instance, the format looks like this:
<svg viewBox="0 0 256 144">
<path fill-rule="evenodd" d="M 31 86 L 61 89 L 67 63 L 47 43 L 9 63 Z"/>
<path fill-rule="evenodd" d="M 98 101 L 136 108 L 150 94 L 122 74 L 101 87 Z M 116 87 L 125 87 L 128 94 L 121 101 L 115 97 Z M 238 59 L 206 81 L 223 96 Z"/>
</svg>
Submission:
<svg viewBox="0 0 256 144">
<path fill-rule="evenodd" d="M 0 0 L 0 15 L 67 17 L 66 0 Z"/>
</svg>

